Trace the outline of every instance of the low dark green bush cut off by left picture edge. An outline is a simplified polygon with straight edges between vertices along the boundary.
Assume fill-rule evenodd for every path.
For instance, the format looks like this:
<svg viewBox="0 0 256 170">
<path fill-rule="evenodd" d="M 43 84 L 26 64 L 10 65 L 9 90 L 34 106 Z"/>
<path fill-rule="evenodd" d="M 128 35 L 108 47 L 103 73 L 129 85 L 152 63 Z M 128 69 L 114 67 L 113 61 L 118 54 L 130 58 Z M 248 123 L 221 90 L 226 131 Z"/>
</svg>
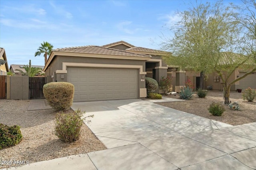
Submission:
<svg viewBox="0 0 256 170">
<path fill-rule="evenodd" d="M 8 126 L 0 123 L 0 149 L 17 145 L 22 140 L 20 127 Z"/>
</svg>

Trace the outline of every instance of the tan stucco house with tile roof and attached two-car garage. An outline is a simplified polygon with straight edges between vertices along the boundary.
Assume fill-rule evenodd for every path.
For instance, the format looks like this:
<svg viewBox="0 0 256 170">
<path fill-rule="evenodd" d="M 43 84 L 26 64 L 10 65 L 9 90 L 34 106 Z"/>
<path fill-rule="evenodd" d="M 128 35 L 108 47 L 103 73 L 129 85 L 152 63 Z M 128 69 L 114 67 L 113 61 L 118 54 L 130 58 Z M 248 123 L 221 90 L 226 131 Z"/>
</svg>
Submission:
<svg viewBox="0 0 256 170">
<path fill-rule="evenodd" d="M 195 88 L 199 87 L 200 73 L 177 71 L 176 66 L 167 65 L 162 60 L 161 56 L 166 54 L 165 51 L 135 47 L 125 41 L 60 48 L 52 50 L 44 72 L 47 82 L 74 84 L 74 102 L 145 98 L 145 77 L 159 82 L 162 76 L 168 75 L 172 77 L 176 92 L 188 78 Z M 216 75 L 210 75 L 205 86 L 217 88 L 217 82 L 212 84 L 216 79 Z"/>
</svg>

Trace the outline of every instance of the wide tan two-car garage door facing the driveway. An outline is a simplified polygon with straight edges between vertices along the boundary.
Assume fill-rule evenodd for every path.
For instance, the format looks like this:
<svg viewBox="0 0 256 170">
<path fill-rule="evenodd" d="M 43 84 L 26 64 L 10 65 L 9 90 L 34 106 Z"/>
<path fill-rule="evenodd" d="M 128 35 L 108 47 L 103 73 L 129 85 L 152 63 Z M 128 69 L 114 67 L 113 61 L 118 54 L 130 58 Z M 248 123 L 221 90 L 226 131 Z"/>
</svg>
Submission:
<svg viewBox="0 0 256 170">
<path fill-rule="evenodd" d="M 138 70 L 68 67 L 74 102 L 138 98 Z"/>
</svg>

